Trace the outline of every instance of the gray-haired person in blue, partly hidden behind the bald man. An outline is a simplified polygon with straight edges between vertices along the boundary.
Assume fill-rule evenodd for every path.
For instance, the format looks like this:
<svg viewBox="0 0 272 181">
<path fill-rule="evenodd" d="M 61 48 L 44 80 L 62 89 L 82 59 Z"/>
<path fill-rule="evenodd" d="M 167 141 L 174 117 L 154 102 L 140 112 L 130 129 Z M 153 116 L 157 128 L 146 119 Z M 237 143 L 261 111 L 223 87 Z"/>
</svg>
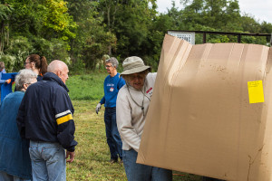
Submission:
<svg viewBox="0 0 272 181">
<path fill-rule="evenodd" d="M 0 180 L 31 180 L 28 141 L 20 137 L 16 117 L 24 91 L 37 80 L 31 70 L 19 71 L 15 77 L 16 90 L 0 105 Z"/>
</svg>

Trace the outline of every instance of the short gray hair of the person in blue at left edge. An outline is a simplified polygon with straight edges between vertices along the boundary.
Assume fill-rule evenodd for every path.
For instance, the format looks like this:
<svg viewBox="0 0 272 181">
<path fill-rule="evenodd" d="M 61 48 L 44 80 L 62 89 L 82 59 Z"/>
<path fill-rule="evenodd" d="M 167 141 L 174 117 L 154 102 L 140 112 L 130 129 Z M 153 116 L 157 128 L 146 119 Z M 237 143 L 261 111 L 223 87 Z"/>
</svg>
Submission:
<svg viewBox="0 0 272 181">
<path fill-rule="evenodd" d="M 30 69 L 23 69 L 18 72 L 15 77 L 16 90 L 23 90 L 24 83 L 31 83 L 33 79 L 37 79 L 37 74 Z"/>
</svg>

